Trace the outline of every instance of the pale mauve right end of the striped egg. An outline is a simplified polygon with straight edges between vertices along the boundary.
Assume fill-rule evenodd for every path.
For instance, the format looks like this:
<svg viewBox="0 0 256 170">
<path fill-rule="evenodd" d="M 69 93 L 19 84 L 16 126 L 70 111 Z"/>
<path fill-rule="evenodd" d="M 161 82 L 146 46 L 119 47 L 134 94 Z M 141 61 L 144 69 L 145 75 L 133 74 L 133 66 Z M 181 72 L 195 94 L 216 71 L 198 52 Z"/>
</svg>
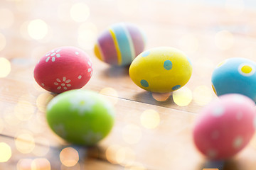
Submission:
<svg viewBox="0 0 256 170">
<path fill-rule="evenodd" d="M 127 25 L 127 30 L 129 31 L 129 35 L 131 35 L 132 37 L 135 55 L 137 56 L 144 51 L 144 37 L 142 35 L 142 32 L 132 24 Z"/>
</svg>

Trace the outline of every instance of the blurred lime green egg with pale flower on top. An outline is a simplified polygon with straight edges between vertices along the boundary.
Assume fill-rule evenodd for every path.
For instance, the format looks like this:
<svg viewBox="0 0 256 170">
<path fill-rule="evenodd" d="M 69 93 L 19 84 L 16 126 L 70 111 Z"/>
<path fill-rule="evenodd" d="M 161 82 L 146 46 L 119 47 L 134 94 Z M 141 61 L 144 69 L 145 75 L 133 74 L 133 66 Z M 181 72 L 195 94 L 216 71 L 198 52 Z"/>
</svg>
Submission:
<svg viewBox="0 0 256 170">
<path fill-rule="evenodd" d="M 114 124 L 114 108 L 104 99 L 92 91 L 65 91 L 48 103 L 48 125 L 70 143 L 95 145 Z"/>
</svg>

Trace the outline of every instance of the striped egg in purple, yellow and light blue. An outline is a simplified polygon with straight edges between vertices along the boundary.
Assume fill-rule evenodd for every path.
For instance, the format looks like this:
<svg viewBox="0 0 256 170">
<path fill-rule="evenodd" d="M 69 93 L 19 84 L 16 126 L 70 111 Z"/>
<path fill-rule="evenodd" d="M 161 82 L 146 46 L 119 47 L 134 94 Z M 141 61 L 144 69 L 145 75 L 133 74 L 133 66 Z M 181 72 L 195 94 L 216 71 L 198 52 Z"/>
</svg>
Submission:
<svg viewBox="0 0 256 170">
<path fill-rule="evenodd" d="M 95 55 L 111 65 L 129 65 L 144 50 L 145 39 L 142 30 L 133 23 L 116 23 L 97 38 Z"/>
</svg>

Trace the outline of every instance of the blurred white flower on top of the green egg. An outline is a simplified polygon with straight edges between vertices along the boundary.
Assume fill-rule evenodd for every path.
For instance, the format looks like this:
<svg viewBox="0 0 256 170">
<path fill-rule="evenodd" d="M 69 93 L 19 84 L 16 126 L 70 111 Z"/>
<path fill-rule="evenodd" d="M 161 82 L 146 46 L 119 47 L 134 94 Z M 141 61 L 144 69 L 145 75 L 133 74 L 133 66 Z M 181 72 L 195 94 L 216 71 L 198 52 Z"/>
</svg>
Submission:
<svg viewBox="0 0 256 170">
<path fill-rule="evenodd" d="M 71 110 L 78 111 L 79 115 L 84 115 L 92 111 L 93 106 L 95 106 L 95 101 L 92 100 L 89 96 L 80 96 L 77 95 L 75 98 L 70 98 Z"/>
</svg>

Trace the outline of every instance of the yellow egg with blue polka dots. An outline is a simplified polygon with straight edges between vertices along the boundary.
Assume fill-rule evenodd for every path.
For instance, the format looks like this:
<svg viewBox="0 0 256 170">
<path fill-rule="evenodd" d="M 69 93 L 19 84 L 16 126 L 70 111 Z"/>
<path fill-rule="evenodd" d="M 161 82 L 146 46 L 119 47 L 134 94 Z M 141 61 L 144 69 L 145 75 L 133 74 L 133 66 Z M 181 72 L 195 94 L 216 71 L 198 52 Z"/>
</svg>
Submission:
<svg viewBox="0 0 256 170">
<path fill-rule="evenodd" d="M 138 55 L 129 76 L 146 91 L 167 93 L 184 86 L 192 74 L 189 58 L 174 47 L 156 47 Z"/>
</svg>

